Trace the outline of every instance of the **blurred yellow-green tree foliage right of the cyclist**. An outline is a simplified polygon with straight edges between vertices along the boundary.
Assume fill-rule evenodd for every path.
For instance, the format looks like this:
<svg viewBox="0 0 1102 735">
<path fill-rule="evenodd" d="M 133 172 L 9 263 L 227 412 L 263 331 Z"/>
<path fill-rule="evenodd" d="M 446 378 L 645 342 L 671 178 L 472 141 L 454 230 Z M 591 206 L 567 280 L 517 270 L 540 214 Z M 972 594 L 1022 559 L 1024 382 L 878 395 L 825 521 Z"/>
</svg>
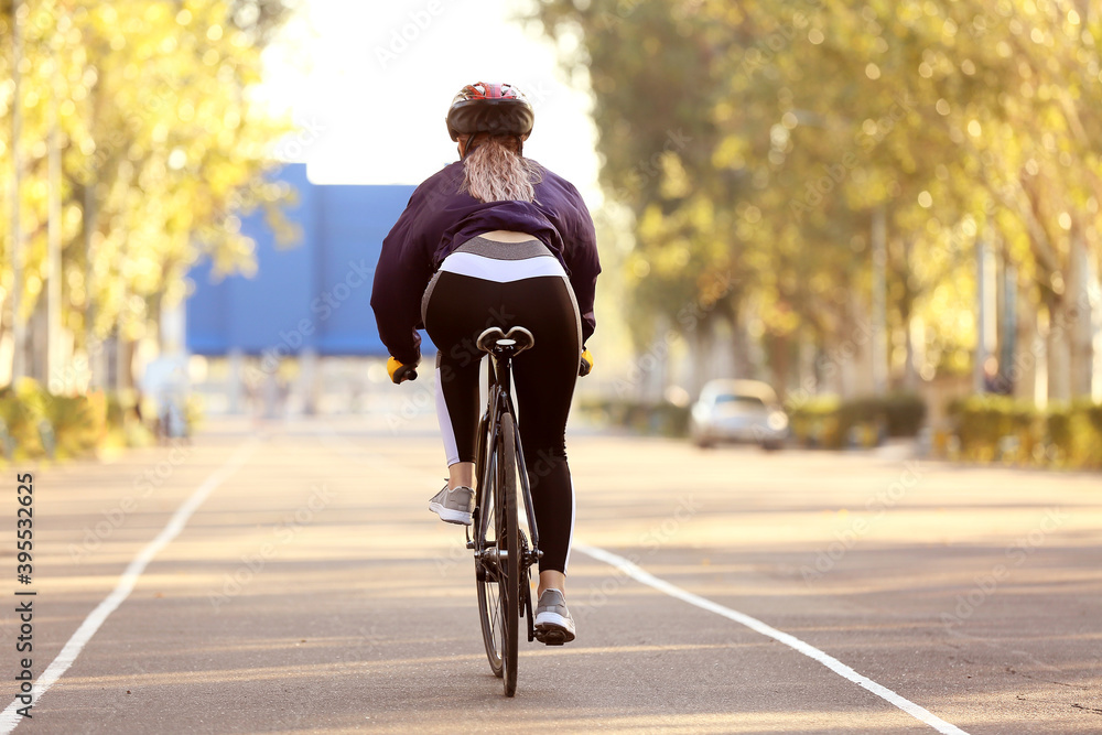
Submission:
<svg viewBox="0 0 1102 735">
<path fill-rule="evenodd" d="M 602 181 L 636 213 L 640 317 L 730 268 L 730 311 L 760 315 L 775 382 L 791 382 L 793 341 L 830 353 L 879 318 L 867 304 L 883 217 L 900 380 L 966 371 L 988 242 L 1057 325 L 1052 394 L 1090 389 L 1102 21 L 1085 0 L 591 0 L 544 2 L 538 18 L 581 40 L 564 63 L 588 71 Z M 693 145 L 630 185 L 670 126 Z"/>
</svg>

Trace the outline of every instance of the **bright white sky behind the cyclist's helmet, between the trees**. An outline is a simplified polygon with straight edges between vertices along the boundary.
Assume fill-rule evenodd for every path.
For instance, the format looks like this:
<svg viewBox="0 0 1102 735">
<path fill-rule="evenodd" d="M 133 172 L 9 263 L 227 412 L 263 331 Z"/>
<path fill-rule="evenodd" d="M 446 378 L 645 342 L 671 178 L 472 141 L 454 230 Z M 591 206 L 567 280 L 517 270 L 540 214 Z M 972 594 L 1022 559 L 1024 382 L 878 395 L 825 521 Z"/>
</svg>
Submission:
<svg viewBox="0 0 1102 735">
<path fill-rule="evenodd" d="M 525 153 L 572 181 L 591 208 L 596 131 L 587 79 L 574 88 L 554 46 L 511 20 L 528 0 L 303 0 L 264 55 L 259 96 L 300 128 L 304 160 L 323 184 L 417 184 L 456 160 L 444 115 L 474 82 L 509 82 L 528 95 L 536 127 Z"/>
</svg>

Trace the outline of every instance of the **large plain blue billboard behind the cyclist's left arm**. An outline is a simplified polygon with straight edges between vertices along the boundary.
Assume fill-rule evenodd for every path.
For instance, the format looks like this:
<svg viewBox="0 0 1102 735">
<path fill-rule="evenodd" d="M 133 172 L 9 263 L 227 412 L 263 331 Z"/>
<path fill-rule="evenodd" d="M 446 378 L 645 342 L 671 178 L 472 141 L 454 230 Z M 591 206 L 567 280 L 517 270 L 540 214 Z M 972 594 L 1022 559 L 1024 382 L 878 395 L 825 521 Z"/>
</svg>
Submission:
<svg viewBox="0 0 1102 735">
<path fill-rule="evenodd" d="M 317 185 L 306 179 L 304 164 L 288 165 L 276 177 L 298 193 L 284 216 L 302 240 L 279 247 L 261 210 L 244 217 L 241 231 L 257 244 L 257 273 L 218 279 L 207 259 L 191 270 L 188 352 L 284 357 L 312 349 L 385 357 L 371 282 L 382 238 L 414 187 Z M 428 339 L 424 347 L 432 349 Z"/>
</svg>

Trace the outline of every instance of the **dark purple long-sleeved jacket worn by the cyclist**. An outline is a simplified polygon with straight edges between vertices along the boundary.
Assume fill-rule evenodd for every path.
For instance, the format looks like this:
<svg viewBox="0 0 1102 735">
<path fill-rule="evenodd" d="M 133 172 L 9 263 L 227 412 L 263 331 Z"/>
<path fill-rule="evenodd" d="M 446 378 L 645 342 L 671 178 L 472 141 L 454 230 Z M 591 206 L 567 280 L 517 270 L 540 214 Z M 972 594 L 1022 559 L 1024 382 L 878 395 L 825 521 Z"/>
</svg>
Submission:
<svg viewBox="0 0 1102 735">
<path fill-rule="evenodd" d="M 421 358 L 421 296 L 440 263 L 472 237 L 495 229 L 528 233 L 559 258 L 582 314 L 582 344 L 590 338 L 593 294 L 601 263 L 593 220 L 573 184 L 543 169 L 536 202 L 479 202 L 463 184 L 463 162 L 424 181 L 382 240 L 371 309 L 382 344 L 403 365 Z"/>
</svg>

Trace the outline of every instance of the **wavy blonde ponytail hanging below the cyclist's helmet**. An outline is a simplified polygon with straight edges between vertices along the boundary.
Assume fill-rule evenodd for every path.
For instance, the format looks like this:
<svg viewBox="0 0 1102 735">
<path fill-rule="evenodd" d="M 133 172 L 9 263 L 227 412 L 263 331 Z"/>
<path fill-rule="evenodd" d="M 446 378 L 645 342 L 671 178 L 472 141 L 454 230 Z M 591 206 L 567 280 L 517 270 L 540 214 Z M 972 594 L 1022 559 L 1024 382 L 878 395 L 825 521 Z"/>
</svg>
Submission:
<svg viewBox="0 0 1102 735">
<path fill-rule="evenodd" d="M 534 202 L 543 171 L 520 154 L 516 136 L 478 134 L 467 141 L 474 150 L 463 160 L 462 192 L 480 202 Z"/>
</svg>

